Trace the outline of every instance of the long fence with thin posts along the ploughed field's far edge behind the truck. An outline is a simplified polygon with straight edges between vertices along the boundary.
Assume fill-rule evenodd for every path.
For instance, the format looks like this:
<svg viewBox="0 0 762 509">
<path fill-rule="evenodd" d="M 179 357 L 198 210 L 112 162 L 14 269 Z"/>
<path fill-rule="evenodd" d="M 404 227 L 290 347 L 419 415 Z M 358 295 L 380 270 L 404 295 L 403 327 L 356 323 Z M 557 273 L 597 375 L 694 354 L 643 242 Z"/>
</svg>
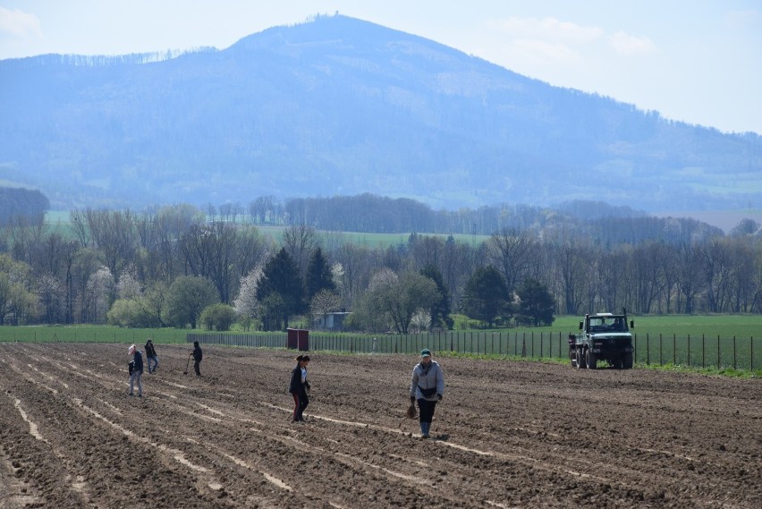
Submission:
<svg viewBox="0 0 762 509">
<path fill-rule="evenodd" d="M 416 335 L 328 335 L 310 333 L 313 352 L 418 353 L 423 348 L 436 352 L 475 355 L 526 357 L 529 359 L 568 359 L 569 333 L 562 332 L 458 332 L 447 331 Z M 191 333 L 186 341 L 252 348 L 284 348 L 286 333 L 224 334 Z M 708 338 L 676 335 L 632 337 L 635 362 L 639 364 L 680 365 L 692 368 L 762 369 L 762 345 L 752 337 L 720 336 Z M 758 343 L 758 341 L 757 341 Z"/>
</svg>

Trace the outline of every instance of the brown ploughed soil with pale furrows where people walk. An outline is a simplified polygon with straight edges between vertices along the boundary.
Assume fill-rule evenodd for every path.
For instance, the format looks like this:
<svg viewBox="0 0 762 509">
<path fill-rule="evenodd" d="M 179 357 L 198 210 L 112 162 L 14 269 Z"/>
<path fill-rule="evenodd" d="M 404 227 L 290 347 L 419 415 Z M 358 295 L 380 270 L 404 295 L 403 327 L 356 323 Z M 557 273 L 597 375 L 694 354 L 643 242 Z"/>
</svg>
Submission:
<svg viewBox="0 0 762 509">
<path fill-rule="evenodd" d="M 404 417 L 416 358 L 0 344 L 0 508 L 762 507 L 762 385 L 647 369 L 436 358 L 434 439 Z M 436 352 L 435 352 L 436 355 Z"/>
</svg>

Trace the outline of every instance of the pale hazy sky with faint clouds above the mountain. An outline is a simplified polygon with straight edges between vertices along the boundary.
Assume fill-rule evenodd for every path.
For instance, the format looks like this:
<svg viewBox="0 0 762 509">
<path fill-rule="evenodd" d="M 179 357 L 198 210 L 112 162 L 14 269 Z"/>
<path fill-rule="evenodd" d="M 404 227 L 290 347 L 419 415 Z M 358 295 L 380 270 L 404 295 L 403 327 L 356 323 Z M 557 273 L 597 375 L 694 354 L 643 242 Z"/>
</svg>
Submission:
<svg viewBox="0 0 762 509">
<path fill-rule="evenodd" d="M 760 0 L 0 0 L 0 59 L 222 49 L 336 11 L 552 85 L 762 134 Z"/>
</svg>

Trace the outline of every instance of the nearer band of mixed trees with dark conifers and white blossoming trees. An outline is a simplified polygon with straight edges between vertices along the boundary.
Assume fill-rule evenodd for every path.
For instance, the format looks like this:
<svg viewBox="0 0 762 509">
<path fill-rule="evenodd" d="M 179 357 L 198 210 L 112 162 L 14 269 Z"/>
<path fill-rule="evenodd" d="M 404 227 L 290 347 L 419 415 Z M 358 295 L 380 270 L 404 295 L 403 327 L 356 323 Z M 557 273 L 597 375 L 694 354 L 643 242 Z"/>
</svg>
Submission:
<svg viewBox="0 0 762 509">
<path fill-rule="evenodd" d="M 275 242 L 207 212 L 88 208 L 67 225 L 5 225 L 0 324 L 282 329 L 295 316 L 351 311 L 350 327 L 407 332 L 452 327 L 454 312 L 485 327 L 622 307 L 762 312 L 762 237 L 751 220 L 728 235 L 676 222 L 668 239 L 637 243 L 601 242 L 597 232 L 634 220 L 607 217 L 503 227 L 478 243 L 411 233 L 369 248 L 312 225 L 284 226 Z"/>
</svg>

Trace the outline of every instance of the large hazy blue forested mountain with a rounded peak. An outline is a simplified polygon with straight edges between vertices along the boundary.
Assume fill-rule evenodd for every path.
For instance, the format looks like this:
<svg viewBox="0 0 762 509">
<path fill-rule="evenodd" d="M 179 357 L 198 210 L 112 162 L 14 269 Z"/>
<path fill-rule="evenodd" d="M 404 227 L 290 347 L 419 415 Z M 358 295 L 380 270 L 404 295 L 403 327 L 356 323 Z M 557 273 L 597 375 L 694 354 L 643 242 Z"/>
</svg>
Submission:
<svg viewBox="0 0 762 509">
<path fill-rule="evenodd" d="M 362 192 L 744 208 L 762 198 L 762 138 L 335 15 L 224 50 L 0 61 L 0 185 L 54 208 Z"/>
</svg>

